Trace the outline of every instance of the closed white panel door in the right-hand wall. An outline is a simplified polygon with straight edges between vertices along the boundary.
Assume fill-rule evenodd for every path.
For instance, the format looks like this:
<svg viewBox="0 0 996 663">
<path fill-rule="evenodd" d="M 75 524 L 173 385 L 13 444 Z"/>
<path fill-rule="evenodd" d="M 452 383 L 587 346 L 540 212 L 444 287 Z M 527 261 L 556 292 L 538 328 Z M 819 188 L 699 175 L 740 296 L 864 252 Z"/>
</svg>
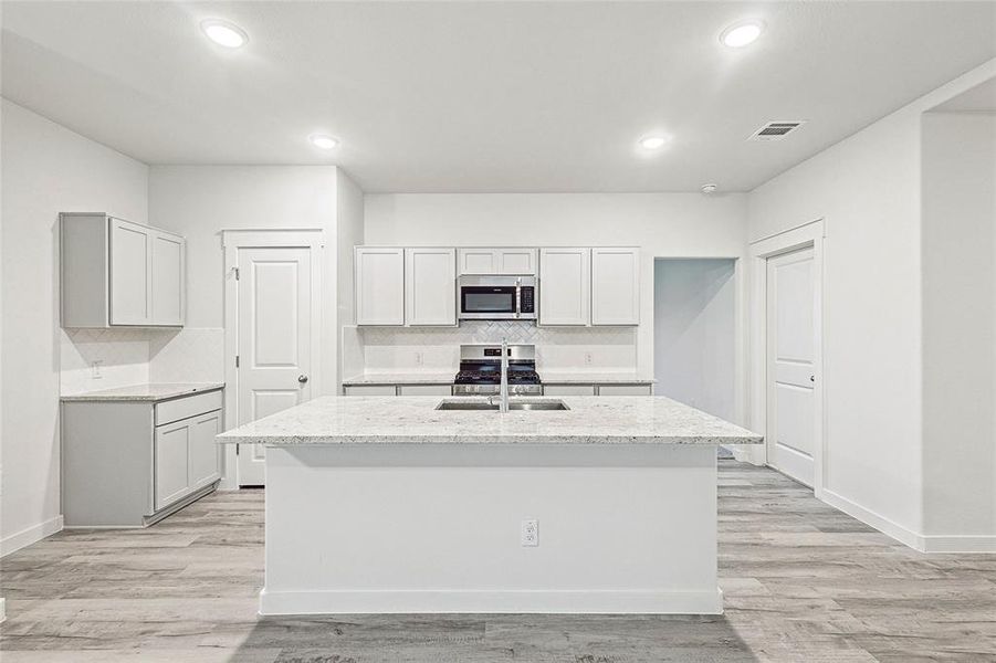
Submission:
<svg viewBox="0 0 996 663">
<path fill-rule="evenodd" d="M 808 486 L 817 431 L 814 264 L 811 248 L 767 261 L 768 464 Z"/>
</svg>

